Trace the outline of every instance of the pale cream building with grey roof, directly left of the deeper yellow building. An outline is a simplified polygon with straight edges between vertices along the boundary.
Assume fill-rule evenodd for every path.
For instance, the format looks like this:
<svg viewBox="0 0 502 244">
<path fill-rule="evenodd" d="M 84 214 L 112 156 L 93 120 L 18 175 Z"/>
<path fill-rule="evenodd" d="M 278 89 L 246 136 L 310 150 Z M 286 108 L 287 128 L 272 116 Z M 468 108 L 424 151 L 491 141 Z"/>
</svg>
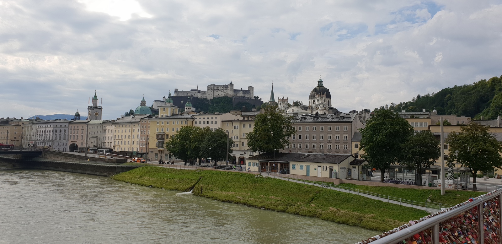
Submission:
<svg viewBox="0 0 502 244">
<path fill-rule="evenodd" d="M 140 150 L 141 120 L 152 115 L 124 116 L 113 124 L 113 151 L 116 154 L 134 156 Z"/>
</svg>

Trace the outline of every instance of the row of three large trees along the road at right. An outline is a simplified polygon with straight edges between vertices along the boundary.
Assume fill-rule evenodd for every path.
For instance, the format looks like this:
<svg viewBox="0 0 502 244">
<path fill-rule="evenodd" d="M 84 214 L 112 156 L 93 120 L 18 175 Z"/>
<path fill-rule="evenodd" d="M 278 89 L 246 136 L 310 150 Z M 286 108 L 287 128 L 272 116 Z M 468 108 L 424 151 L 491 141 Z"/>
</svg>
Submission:
<svg viewBox="0 0 502 244">
<path fill-rule="evenodd" d="M 361 157 L 370 166 L 385 172 L 392 164 L 405 165 L 417 170 L 417 181 L 422 184 L 422 169 L 430 167 L 440 157 L 439 141 L 430 131 L 414 133 L 413 127 L 398 113 L 387 109 L 376 110 L 374 116 L 359 129 Z M 474 188 L 478 171 L 490 172 L 502 168 L 502 146 L 488 132 L 488 128 L 470 123 L 459 133 L 449 133 L 445 141 L 449 145 L 448 163 L 457 160 L 461 167 L 469 168 L 474 176 Z M 455 151 L 459 151 L 458 157 Z M 384 181 L 384 174 L 381 174 Z"/>
</svg>

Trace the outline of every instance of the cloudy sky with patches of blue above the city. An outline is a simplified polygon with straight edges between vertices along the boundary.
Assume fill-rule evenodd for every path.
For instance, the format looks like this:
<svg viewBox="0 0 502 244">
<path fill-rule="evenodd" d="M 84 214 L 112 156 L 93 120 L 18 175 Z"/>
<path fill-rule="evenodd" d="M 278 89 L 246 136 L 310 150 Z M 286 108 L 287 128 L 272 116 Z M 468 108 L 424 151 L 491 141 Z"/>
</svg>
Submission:
<svg viewBox="0 0 502 244">
<path fill-rule="evenodd" d="M 0 0 L 0 117 L 115 118 L 169 90 L 255 87 L 341 111 L 502 73 L 502 1 Z M 277 98 L 276 98 L 277 99 Z"/>
</svg>

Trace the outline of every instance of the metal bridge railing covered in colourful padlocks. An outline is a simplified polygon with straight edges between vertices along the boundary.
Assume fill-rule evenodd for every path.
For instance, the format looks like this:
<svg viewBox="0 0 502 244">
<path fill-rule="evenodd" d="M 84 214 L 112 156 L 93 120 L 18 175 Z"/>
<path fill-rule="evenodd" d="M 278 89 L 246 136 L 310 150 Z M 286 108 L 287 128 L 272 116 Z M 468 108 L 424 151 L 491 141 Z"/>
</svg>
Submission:
<svg viewBox="0 0 502 244">
<path fill-rule="evenodd" d="M 497 189 L 356 244 L 501 244 L 501 200 Z"/>
</svg>

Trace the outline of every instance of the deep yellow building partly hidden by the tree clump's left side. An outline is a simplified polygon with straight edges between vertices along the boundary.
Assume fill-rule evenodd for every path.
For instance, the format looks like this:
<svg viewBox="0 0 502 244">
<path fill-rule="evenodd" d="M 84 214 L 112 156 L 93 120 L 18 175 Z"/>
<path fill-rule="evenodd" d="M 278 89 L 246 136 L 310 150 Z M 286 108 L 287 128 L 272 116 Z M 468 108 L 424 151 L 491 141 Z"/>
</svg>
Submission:
<svg viewBox="0 0 502 244">
<path fill-rule="evenodd" d="M 160 106 L 159 106 L 160 107 Z M 145 146 L 145 152 L 148 152 L 150 161 L 163 160 L 173 161 L 173 156 L 165 149 L 165 143 L 184 126 L 193 126 L 195 120 L 188 114 L 175 114 L 164 117 L 152 117 L 145 119 L 145 128 L 142 130 L 141 143 Z M 148 124 L 148 128 L 146 128 Z M 145 141 L 143 141 L 145 140 Z"/>
</svg>

